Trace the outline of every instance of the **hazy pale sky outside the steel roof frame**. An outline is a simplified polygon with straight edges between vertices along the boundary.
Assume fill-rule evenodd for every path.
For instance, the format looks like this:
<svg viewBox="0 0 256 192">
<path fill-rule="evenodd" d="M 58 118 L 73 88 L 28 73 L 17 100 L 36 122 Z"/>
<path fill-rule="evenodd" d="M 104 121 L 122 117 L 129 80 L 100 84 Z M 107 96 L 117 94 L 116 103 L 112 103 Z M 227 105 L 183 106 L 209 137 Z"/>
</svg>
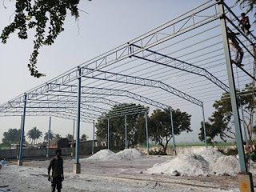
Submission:
<svg viewBox="0 0 256 192">
<path fill-rule="evenodd" d="M 231 1 L 231 0 L 230 0 Z M 14 2 L 6 1 L 6 9 L 0 6 L 0 30 L 13 19 Z M 46 73 L 45 78 L 33 78 L 26 67 L 33 47 L 33 32 L 27 40 L 18 39 L 12 34 L 6 45 L 0 44 L 0 103 L 14 98 L 18 94 L 30 90 L 43 82 L 62 74 L 66 70 L 78 66 L 90 58 L 94 58 L 130 39 L 138 37 L 164 22 L 170 21 L 179 14 L 191 10 L 206 1 L 198 0 L 94 0 L 81 1 L 81 17 L 78 21 L 67 17 L 65 31 L 59 35 L 53 46 L 43 47 L 38 57 L 38 69 Z M 229 1 L 228 1 L 229 2 Z M 231 1 L 233 2 L 233 1 Z M 209 104 L 211 106 L 212 103 Z M 193 110 L 190 110 L 193 112 Z M 206 118 L 212 108 L 206 110 Z M 46 132 L 46 117 L 27 117 L 26 131 L 33 126 Z M 195 120 L 194 120 L 195 121 Z M 197 120 L 196 122 L 200 122 Z M 9 128 L 20 128 L 21 118 L 0 118 L 0 139 L 2 133 Z M 73 122 L 60 118 L 52 118 L 54 133 L 66 136 L 71 133 Z M 198 140 L 198 125 L 192 123 L 194 132 L 184 134 L 179 140 Z M 82 123 L 82 134 L 92 135 L 92 125 Z"/>
</svg>

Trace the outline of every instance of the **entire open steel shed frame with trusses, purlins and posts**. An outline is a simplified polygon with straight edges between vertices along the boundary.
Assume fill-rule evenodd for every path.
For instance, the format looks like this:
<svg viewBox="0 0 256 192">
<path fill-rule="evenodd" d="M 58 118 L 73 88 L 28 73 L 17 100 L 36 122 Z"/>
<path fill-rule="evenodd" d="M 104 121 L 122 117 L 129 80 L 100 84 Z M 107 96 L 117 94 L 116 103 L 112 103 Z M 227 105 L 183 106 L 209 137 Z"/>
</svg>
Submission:
<svg viewBox="0 0 256 192">
<path fill-rule="evenodd" d="M 230 93 L 234 118 L 239 119 L 238 111 L 234 110 L 236 95 L 232 82 L 239 75 L 240 82 L 235 83 L 244 86 L 250 82 L 250 78 L 254 78 L 250 59 L 255 59 L 255 56 L 246 43 L 254 44 L 256 38 L 253 34 L 244 34 L 234 25 L 236 21 L 239 18 L 222 0 L 206 2 L 3 103 L 0 105 L 0 116 L 22 116 L 22 134 L 26 116 L 76 119 L 76 141 L 79 143 L 80 121 L 94 124 L 99 118 L 107 118 L 109 122 L 110 118 L 123 116 L 127 131 L 127 115 L 142 113 L 145 114 L 149 150 L 146 115 L 149 106 L 153 110 L 170 110 L 170 129 L 174 133 L 173 108 L 183 106 L 190 110 L 188 108 L 191 107 L 186 106 L 192 104 L 202 109 L 202 125 L 206 135 L 204 106 L 223 92 Z M 232 67 L 230 63 L 232 54 L 226 41 L 227 25 L 241 34 L 238 41 L 246 50 L 244 60 L 248 65 L 240 67 L 237 76 L 232 72 L 235 66 Z M 141 106 L 129 106 L 131 102 L 140 103 Z M 111 107 L 122 103 L 127 104 L 122 110 L 111 110 Z M 239 121 L 235 128 L 238 145 L 241 145 Z M 108 138 L 109 135 L 108 126 Z M 174 136 L 173 145 L 175 153 Z M 76 173 L 80 172 L 78 151 L 79 145 L 76 145 Z M 242 172 L 246 172 L 241 146 L 238 151 Z M 22 161 L 22 147 L 19 160 Z"/>
</svg>

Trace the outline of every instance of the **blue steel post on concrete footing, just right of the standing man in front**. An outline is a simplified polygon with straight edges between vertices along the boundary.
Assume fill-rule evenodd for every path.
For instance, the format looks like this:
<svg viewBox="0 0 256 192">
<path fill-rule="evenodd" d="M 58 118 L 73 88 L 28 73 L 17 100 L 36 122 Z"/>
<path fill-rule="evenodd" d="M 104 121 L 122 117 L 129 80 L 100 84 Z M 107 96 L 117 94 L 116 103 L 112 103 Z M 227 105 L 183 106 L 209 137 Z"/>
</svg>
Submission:
<svg viewBox="0 0 256 192">
<path fill-rule="evenodd" d="M 74 174 L 81 173 L 81 167 L 79 163 L 79 142 L 80 142 L 80 112 L 81 112 L 81 73 L 82 70 L 78 67 L 78 106 L 77 106 L 77 134 L 75 142 L 75 163 L 74 163 Z"/>
</svg>

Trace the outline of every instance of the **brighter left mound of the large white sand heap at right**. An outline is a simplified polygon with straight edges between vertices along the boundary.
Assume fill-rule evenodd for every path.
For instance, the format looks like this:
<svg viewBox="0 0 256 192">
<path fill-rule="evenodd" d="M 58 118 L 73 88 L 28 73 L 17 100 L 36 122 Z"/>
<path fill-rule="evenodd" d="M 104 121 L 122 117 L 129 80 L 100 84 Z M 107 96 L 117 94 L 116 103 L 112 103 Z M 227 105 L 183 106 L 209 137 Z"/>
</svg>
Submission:
<svg viewBox="0 0 256 192">
<path fill-rule="evenodd" d="M 182 154 L 177 158 L 155 164 L 149 170 L 148 174 L 170 174 L 182 176 L 207 176 L 209 174 L 208 162 L 198 154 Z"/>
</svg>

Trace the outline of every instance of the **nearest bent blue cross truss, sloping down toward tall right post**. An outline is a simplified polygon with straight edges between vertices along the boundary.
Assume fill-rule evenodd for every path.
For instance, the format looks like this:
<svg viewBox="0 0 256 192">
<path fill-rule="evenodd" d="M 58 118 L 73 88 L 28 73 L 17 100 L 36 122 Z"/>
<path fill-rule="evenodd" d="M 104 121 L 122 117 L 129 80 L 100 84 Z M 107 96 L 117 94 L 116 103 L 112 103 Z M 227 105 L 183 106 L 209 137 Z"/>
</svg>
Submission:
<svg viewBox="0 0 256 192">
<path fill-rule="evenodd" d="M 137 46 L 134 44 L 130 45 L 131 53 L 134 52 L 134 47 L 138 48 L 140 46 Z M 148 54 L 145 55 L 144 52 L 146 52 Z M 151 57 L 151 56 L 154 59 L 150 59 L 149 57 Z M 225 83 L 223 83 L 218 78 L 216 78 L 213 74 L 211 74 L 208 70 L 206 70 L 202 67 L 199 67 L 199 66 L 194 66 L 193 64 L 184 62 L 178 58 L 172 58 L 165 54 L 159 54 L 156 51 L 148 50 L 148 49 L 143 51 L 142 56 L 138 56 L 138 55 L 134 54 L 133 57 L 140 58 L 140 59 L 146 60 L 148 62 L 154 62 L 154 63 L 157 63 L 162 66 L 167 66 L 167 67 L 171 67 L 174 69 L 183 70 L 183 71 L 189 72 L 191 74 L 198 74 L 200 76 L 203 76 L 203 77 L 209 79 L 210 82 L 213 82 L 216 86 L 219 86 L 222 90 L 225 90 L 227 93 L 230 92 L 230 88 L 228 86 L 226 86 Z"/>
</svg>

